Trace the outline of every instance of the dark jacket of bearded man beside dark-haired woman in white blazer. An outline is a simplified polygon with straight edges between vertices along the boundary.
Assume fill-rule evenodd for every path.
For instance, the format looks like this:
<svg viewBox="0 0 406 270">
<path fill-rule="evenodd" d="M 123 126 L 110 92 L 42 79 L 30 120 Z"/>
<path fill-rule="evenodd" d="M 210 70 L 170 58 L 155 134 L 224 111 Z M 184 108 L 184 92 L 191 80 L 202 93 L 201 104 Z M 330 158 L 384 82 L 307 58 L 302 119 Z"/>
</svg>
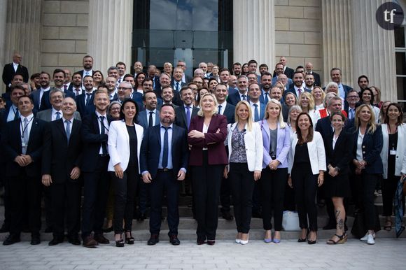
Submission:
<svg viewBox="0 0 406 270">
<path fill-rule="evenodd" d="M 111 122 L 109 115 L 107 115 L 107 121 Z M 85 172 L 92 172 L 96 169 L 96 161 L 99 157 L 101 143 L 107 143 L 109 138 L 107 134 L 100 134 L 99 120 L 95 112 L 83 118 L 81 136 L 83 141 L 83 159 L 80 169 Z"/>
</svg>

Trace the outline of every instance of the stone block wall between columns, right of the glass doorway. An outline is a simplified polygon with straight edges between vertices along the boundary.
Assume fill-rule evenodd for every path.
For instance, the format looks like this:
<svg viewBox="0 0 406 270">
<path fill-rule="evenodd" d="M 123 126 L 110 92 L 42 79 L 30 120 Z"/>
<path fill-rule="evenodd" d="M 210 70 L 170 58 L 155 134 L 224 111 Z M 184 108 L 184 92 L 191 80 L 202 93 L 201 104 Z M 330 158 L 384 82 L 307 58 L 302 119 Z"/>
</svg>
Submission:
<svg viewBox="0 0 406 270">
<path fill-rule="evenodd" d="M 324 80 L 320 5 L 320 0 L 275 0 L 276 57 L 269 70 L 284 56 L 292 69 L 311 62 Z"/>
</svg>

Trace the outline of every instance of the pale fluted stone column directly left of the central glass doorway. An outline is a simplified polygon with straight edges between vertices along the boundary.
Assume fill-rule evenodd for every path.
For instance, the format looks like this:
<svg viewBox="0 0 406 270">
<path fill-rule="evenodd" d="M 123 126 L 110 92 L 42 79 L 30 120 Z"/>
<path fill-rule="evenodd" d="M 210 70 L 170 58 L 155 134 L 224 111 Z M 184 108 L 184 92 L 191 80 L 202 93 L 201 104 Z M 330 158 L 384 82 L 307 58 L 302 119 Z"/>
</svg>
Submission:
<svg viewBox="0 0 406 270">
<path fill-rule="evenodd" d="M 107 72 L 121 61 L 130 73 L 132 46 L 132 0 L 90 0 L 87 52 L 94 68 Z"/>
</svg>

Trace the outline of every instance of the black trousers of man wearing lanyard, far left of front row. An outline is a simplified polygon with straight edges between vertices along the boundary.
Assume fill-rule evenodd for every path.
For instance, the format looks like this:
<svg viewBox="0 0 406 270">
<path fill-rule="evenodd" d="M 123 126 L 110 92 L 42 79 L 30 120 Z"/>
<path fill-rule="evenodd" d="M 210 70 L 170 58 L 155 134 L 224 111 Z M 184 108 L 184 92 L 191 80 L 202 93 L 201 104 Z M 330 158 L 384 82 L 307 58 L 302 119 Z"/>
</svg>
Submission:
<svg viewBox="0 0 406 270">
<path fill-rule="evenodd" d="M 41 229 L 41 180 L 40 176 L 27 176 L 20 170 L 18 176 L 8 178 L 10 234 L 20 234 L 27 220 L 32 234 Z M 28 211 L 27 211 L 28 209 Z"/>
</svg>

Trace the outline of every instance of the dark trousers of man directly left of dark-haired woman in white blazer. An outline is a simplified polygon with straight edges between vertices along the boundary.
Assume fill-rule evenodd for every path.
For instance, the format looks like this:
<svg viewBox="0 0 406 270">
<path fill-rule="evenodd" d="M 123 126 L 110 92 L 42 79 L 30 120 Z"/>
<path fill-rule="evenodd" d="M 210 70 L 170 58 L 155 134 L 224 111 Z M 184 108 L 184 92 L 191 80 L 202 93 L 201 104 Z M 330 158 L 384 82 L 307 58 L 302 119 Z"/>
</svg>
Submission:
<svg viewBox="0 0 406 270">
<path fill-rule="evenodd" d="M 107 172 L 109 157 L 99 157 L 96 169 L 92 172 L 83 172 L 83 215 L 82 239 L 94 234 L 103 234 L 104 213 L 106 212 L 109 197 L 110 175 Z"/>
</svg>

